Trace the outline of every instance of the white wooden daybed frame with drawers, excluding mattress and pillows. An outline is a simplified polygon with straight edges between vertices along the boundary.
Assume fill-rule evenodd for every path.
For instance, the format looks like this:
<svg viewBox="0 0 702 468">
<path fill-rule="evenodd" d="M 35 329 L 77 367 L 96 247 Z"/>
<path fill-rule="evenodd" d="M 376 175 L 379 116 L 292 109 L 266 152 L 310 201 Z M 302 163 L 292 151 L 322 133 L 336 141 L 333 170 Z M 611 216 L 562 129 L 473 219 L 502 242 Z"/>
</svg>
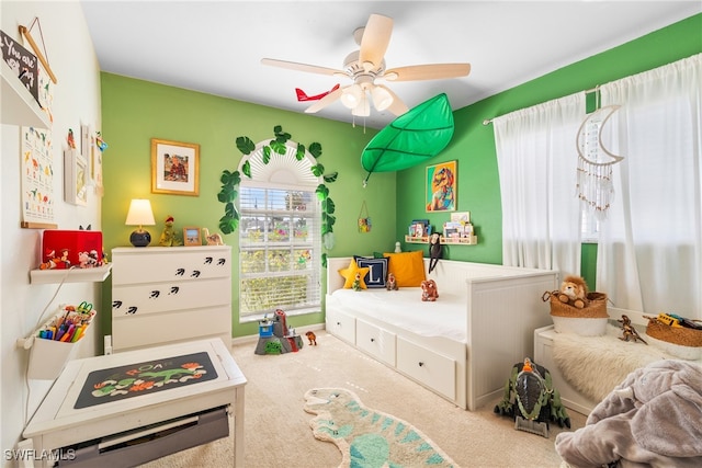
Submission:
<svg viewBox="0 0 702 468">
<path fill-rule="evenodd" d="M 534 330 L 552 323 L 542 296 L 557 288 L 557 272 L 441 260 L 427 277 L 440 295 L 467 288 L 467 343 L 422 336 L 374 317 L 371 304 L 359 310 L 331 295 L 343 288 L 339 270 L 350 260 L 327 260 L 327 331 L 463 409 L 500 395 L 512 366 L 532 356 Z"/>
</svg>

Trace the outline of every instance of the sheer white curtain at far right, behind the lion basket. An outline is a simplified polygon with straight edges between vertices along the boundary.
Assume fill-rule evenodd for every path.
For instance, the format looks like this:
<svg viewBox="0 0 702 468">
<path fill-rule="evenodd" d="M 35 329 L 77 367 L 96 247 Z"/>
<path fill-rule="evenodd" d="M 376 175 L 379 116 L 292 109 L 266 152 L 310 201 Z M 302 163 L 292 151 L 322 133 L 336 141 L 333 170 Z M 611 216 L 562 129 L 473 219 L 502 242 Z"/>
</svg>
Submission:
<svg viewBox="0 0 702 468">
<path fill-rule="evenodd" d="M 702 55 L 601 87 L 621 104 L 607 145 L 615 199 L 597 289 L 616 307 L 702 318 Z"/>
</svg>

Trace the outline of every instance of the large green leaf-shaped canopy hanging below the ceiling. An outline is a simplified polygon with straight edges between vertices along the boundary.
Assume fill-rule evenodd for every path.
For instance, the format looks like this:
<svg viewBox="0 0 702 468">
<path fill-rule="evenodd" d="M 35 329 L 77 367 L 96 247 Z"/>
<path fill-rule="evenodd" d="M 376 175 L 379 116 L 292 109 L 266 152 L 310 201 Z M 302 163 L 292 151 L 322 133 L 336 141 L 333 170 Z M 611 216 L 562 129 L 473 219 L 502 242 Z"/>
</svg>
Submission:
<svg viewBox="0 0 702 468">
<path fill-rule="evenodd" d="M 383 128 L 366 145 L 361 165 L 373 172 L 400 171 L 439 155 L 453 137 L 453 113 L 446 94 L 441 93 Z"/>
</svg>

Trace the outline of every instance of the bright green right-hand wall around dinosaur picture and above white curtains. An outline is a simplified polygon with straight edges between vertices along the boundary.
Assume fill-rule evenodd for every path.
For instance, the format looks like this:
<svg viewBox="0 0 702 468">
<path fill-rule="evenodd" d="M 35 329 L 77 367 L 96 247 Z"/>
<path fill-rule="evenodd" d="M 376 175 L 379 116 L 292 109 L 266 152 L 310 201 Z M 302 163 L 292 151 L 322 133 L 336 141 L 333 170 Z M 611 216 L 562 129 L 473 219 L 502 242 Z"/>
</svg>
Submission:
<svg viewBox="0 0 702 468">
<path fill-rule="evenodd" d="M 457 210 L 471 212 L 478 244 L 451 246 L 444 250 L 444 256 L 502 262 L 502 210 L 495 138 L 492 126 L 483 125 L 484 119 L 592 89 L 700 52 L 702 14 L 455 111 L 453 140 L 432 163 L 457 160 Z M 440 227 L 449 217 L 448 214 L 424 212 L 424 167 L 417 167 L 397 174 L 397 232 L 404 232 L 416 218 L 429 218 L 432 225 Z M 586 256 L 580 274 L 591 288 L 595 287 L 596 252 L 596 246 L 584 247 Z"/>
</svg>

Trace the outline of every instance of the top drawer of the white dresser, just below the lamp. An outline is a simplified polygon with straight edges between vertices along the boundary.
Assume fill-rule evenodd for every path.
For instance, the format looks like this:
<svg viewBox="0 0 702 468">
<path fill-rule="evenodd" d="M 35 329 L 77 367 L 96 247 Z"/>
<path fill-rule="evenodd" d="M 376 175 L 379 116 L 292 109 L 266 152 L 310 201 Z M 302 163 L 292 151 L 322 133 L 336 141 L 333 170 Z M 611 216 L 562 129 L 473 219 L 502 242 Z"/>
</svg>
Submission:
<svg viewBox="0 0 702 468">
<path fill-rule="evenodd" d="M 112 250 L 112 284 L 194 281 L 231 275 L 231 249 L 148 247 Z"/>
</svg>

